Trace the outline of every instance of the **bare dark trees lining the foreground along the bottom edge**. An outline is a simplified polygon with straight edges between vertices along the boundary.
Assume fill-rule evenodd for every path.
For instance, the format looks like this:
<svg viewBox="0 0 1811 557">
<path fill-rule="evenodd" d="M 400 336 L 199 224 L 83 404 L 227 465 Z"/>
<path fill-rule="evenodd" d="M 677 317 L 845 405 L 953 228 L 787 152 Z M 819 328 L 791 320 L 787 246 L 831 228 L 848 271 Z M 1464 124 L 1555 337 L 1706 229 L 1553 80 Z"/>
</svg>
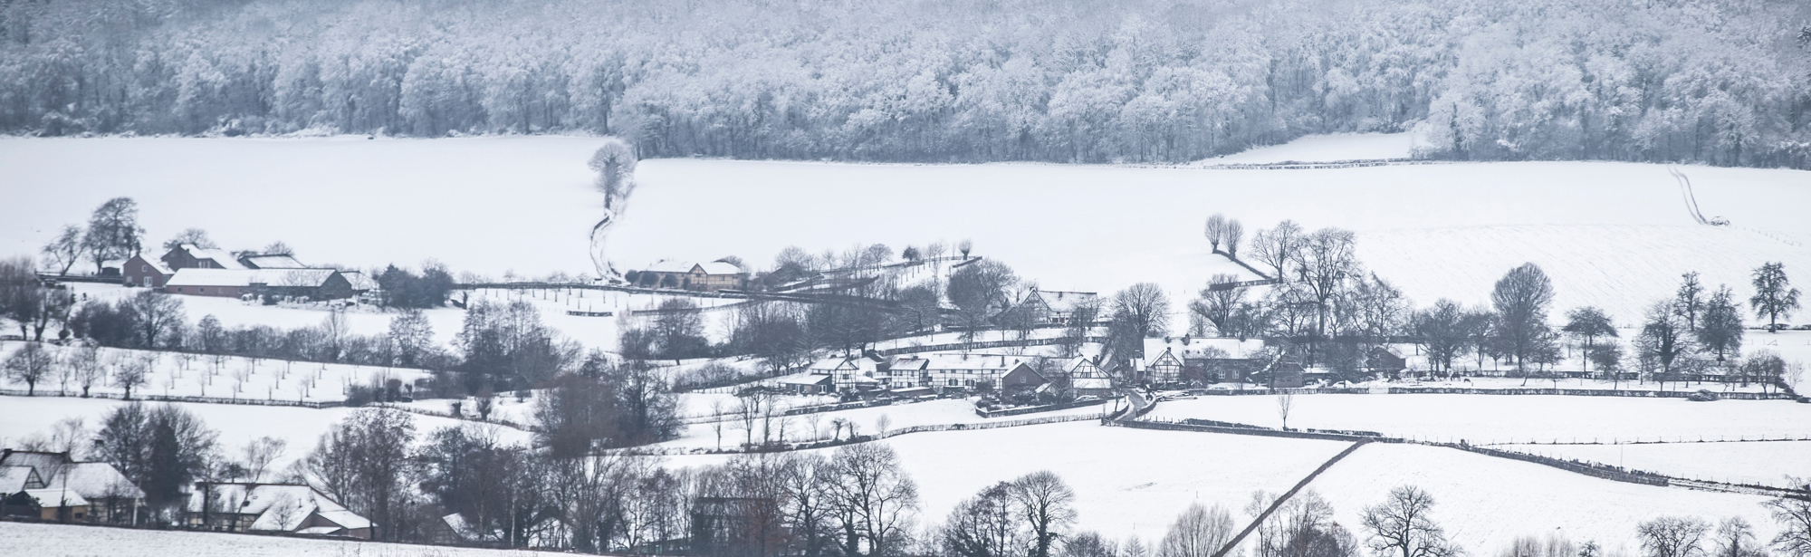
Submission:
<svg viewBox="0 0 1811 557">
<path fill-rule="evenodd" d="M 177 405 L 112 409 L 94 432 L 58 423 L 33 450 L 74 450 L 112 463 L 139 485 L 150 524 L 183 523 L 196 481 L 286 481 L 326 492 L 375 523 L 380 541 L 433 541 L 458 514 L 467 544 L 654 555 L 942 555 L 942 557 L 1212 557 L 1239 524 L 1251 557 L 1467 555 L 1436 519 L 1427 490 L 1402 485 L 1360 510 L 1355 528 L 1335 521 L 1315 490 L 1288 501 L 1253 492 L 1235 517 L 1193 503 L 1161 539 L 1114 541 L 1081 528 L 1078 496 L 1041 470 L 978 490 L 944 521 L 922 514 L 918 483 L 886 443 L 826 452 L 741 454 L 723 465 L 666 468 L 656 458 L 523 450 L 494 429 L 462 425 L 418 434 L 409 414 L 366 409 L 333 425 L 286 468 L 281 439 L 221 447 L 217 434 Z M 1793 479 L 1793 488 L 1811 485 Z M 1811 548 L 1811 499 L 1764 503 L 1778 533 L 1728 517 L 1662 515 L 1635 524 L 1643 557 L 1768 557 Z M 1244 552 L 1239 552 L 1244 555 Z M 1561 533 L 1518 537 L 1505 557 L 1597 557 L 1595 541 Z"/>
</svg>

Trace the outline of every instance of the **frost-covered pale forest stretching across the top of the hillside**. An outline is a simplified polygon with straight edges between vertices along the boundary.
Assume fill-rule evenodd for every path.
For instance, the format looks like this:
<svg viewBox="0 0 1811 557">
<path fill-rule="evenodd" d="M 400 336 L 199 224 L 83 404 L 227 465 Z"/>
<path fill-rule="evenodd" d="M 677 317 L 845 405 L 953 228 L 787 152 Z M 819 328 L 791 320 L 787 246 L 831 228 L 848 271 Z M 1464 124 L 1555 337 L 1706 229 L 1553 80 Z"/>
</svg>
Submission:
<svg viewBox="0 0 1811 557">
<path fill-rule="evenodd" d="M 11 134 L 621 134 L 645 156 L 1811 168 L 1811 4 L 0 2 Z"/>
</svg>

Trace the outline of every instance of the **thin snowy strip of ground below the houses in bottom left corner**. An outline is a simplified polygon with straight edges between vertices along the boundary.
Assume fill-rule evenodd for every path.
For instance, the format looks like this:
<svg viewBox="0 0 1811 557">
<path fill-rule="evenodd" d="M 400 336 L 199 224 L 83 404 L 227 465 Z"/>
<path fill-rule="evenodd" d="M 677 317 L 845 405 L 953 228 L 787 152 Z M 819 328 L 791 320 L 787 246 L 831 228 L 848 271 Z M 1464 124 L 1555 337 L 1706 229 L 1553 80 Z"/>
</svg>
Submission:
<svg viewBox="0 0 1811 557">
<path fill-rule="evenodd" d="M 0 523 L 0 548 L 9 555 L 58 557 L 243 557 L 243 555 L 359 555 L 359 557 L 502 557 L 541 552 L 473 550 L 447 546 L 380 544 L 337 539 L 299 539 L 255 533 L 130 530 L 103 526 Z"/>
</svg>

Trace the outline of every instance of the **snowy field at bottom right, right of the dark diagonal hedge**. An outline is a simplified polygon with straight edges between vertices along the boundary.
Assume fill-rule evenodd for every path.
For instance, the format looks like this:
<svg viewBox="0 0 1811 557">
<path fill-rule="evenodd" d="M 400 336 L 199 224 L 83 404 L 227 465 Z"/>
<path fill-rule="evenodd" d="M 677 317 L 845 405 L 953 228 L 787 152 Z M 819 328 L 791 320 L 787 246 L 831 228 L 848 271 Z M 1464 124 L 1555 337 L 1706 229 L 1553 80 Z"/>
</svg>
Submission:
<svg viewBox="0 0 1811 557">
<path fill-rule="evenodd" d="M 1740 515 L 1758 539 L 1777 526 L 1766 497 L 1697 492 L 1595 479 L 1552 467 L 1471 454 L 1458 448 L 1371 443 L 1309 488 L 1333 503 L 1347 528 L 1384 503 L 1391 488 L 1414 485 L 1434 497 L 1431 517 L 1471 555 L 1496 555 L 1519 535 L 1563 533 L 1576 544 L 1595 541 L 1605 555 L 1641 555 L 1635 524 L 1659 515 L 1691 515 L 1711 524 Z"/>
</svg>

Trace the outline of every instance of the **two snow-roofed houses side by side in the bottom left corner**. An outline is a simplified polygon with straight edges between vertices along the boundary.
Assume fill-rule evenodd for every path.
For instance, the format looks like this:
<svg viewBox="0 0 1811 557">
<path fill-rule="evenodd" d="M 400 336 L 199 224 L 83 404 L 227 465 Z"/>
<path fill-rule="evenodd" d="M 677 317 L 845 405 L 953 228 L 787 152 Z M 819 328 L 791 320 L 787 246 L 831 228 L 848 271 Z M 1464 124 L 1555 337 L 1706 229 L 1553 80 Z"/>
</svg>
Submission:
<svg viewBox="0 0 1811 557">
<path fill-rule="evenodd" d="M 0 450 L 0 514 L 60 523 L 143 524 L 145 492 L 109 463 L 69 452 Z M 371 521 L 306 485 L 203 481 L 179 523 L 217 532 L 371 539 Z"/>
</svg>

